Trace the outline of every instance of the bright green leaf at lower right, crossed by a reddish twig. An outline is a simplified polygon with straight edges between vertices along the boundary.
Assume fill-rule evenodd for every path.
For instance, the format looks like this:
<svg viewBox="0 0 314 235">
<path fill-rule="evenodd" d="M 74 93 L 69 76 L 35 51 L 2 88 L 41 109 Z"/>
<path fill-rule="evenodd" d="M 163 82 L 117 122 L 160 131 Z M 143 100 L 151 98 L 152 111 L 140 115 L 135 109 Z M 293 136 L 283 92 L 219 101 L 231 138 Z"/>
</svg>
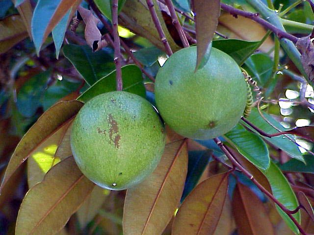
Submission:
<svg viewBox="0 0 314 235">
<path fill-rule="evenodd" d="M 288 180 L 283 175 L 281 170 L 278 168 L 276 164 L 270 162 L 270 166 L 267 171 L 264 171 L 265 176 L 267 177 L 271 190 L 273 192 L 274 197 L 281 202 L 286 208 L 289 210 L 294 210 L 298 207 L 298 201 L 296 196 L 289 185 Z M 283 217 L 285 222 L 288 224 L 289 228 L 294 232 L 299 234 L 298 228 L 292 222 L 292 220 L 288 217 L 288 215 L 282 211 L 278 206 L 276 206 L 279 214 Z M 293 217 L 300 223 L 301 216 L 300 212 L 293 214 Z"/>
</svg>

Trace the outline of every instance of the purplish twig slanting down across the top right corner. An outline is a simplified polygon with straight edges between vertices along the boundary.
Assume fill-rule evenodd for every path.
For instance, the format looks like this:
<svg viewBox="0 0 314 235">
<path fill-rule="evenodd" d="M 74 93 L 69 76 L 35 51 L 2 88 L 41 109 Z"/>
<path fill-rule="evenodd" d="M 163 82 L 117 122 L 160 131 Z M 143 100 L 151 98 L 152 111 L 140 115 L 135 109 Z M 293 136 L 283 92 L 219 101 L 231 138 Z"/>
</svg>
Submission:
<svg viewBox="0 0 314 235">
<path fill-rule="evenodd" d="M 299 39 L 299 38 L 293 36 L 292 34 L 284 32 L 283 30 L 277 28 L 273 24 L 270 24 L 269 22 L 265 21 L 264 19 L 262 19 L 260 17 L 259 13 L 252 13 L 252 12 L 248 12 L 248 11 L 242 11 L 240 9 L 236 9 L 236 8 L 234 8 L 232 6 L 229 6 L 227 4 L 224 4 L 224 3 L 221 3 L 221 8 L 224 11 L 229 12 L 230 14 L 232 14 L 235 17 L 237 15 L 243 16 L 243 17 L 249 18 L 249 19 L 251 19 L 251 20 L 261 24 L 265 28 L 268 28 L 273 33 L 275 33 L 279 39 L 280 38 L 287 38 L 288 40 L 292 41 L 293 43 L 296 43 L 297 40 Z"/>
</svg>

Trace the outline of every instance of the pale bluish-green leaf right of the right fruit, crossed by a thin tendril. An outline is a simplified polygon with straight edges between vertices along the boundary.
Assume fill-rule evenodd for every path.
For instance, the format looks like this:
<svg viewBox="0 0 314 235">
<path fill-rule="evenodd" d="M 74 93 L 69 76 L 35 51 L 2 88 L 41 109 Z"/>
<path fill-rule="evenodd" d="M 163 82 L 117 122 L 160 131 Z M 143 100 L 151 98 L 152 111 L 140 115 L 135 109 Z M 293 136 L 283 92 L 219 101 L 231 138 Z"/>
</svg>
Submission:
<svg viewBox="0 0 314 235">
<path fill-rule="evenodd" d="M 285 130 L 285 128 L 278 122 L 276 121 L 274 118 L 272 118 L 269 114 L 266 114 L 265 112 L 262 113 L 264 115 L 265 118 L 267 118 L 267 120 L 272 123 L 274 126 L 276 126 L 278 129 L 280 130 Z M 259 114 L 259 111 L 257 110 L 257 108 L 253 108 L 252 112 L 250 114 L 250 117 L 247 118 L 250 122 L 252 122 L 255 126 L 257 126 L 258 128 L 262 129 L 264 132 L 268 133 L 268 134 L 273 134 L 278 132 L 275 128 L 273 128 L 271 125 L 269 125 Z M 293 138 L 292 135 L 288 135 L 289 137 Z M 302 153 L 300 152 L 298 146 L 290 141 L 287 137 L 285 137 L 284 135 L 282 136 L 276 136 L 276 137 L 272 137 L 272 138 L 267 138 L 267 137 L 263 137 L 263 139 L 271 142 L 272 144 L 274 144 L 276 147 L 282 149 L 283 151 L 285 151 L 286 153 L 288 153 L 289 156 L 291 156 L 292 158 L 298 159 L 300 161 L 304 161 Z"/>
</svg>

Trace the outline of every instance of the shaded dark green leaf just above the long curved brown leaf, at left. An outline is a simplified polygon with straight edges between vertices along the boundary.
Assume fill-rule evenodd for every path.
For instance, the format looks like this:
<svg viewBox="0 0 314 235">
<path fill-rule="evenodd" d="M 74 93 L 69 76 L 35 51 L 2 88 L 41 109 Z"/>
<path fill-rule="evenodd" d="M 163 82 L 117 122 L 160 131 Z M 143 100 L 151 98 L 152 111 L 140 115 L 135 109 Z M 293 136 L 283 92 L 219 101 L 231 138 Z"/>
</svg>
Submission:
<svg viewBox="0 0 314 235">
<path fill-rule="evenodd" d="M 59 101 L 64 96 L 74 92 L 78 89 L 80 83 L 78 82 L 70 82 L 66 79 L 62 81 L 57 80 L 55 84 L 50 86 L 47 90 L 45 90 L 43 98 L 42 98 L 42 105 L 44 111 L 49 109 L 54 103 Z"/>
</svg>

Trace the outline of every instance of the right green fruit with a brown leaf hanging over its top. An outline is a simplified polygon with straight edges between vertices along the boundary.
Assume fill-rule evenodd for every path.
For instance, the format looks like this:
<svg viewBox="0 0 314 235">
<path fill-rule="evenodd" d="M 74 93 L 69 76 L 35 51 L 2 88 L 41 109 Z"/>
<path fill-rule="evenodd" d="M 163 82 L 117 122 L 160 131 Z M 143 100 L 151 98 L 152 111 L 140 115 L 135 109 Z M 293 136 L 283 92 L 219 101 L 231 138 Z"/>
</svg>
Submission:
<svg viewBox="0 0 314 235">
<path fill-rule="evenodd" d="M 246 83 L 236 62 L 211 49 L 208 63 L 194 72 L 196 47 L 171 55 L 159 69 L 155 83 L 158 111 L 180 135 L 208 140 L 230 131 L 246 104 Z"/>
</svg>

